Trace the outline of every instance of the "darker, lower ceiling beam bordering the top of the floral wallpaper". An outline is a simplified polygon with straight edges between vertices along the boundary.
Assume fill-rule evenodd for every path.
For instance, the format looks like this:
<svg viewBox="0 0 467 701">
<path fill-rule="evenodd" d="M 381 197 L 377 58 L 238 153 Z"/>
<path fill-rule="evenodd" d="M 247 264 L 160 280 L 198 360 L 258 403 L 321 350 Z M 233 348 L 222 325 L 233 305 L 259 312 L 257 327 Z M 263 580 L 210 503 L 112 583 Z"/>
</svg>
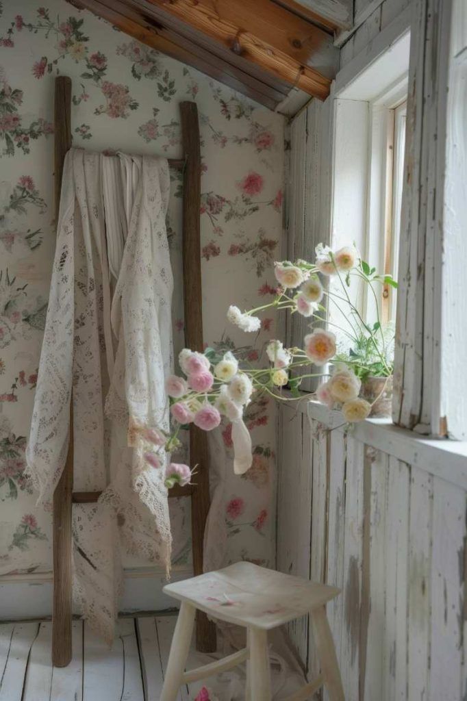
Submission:
<svg viewBox="0 0 467 701">
<path fill-rule="evenodd" d="M 107 20 L 116 29 L 133 36 L 133 39 L 198 69 L 269 109 L 275 109 L 292 87 L 292 83 L 271 79 L 265 72 L 258 71 L 257 77 L 234 64 L 219 62 L 217 56 L 210 51 L 187 37 L 158 25 L 141 7 L 135 8 L 133 3 L 133 6 L 129 6 L 127 0 L 68 1 L 79 9 L 87 9 Z"/>
</svg>

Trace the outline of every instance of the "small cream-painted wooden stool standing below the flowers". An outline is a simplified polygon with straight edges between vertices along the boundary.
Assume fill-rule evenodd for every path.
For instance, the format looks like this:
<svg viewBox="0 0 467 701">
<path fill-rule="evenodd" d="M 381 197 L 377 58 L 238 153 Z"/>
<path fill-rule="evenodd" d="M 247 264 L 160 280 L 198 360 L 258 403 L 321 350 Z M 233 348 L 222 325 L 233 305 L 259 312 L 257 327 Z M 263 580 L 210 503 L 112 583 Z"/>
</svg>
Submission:
<svg viewBox="0 0 467 701">
<path fill-rule="evenodd" d="M 161 701 L 175 701 L 182 684 L 225 672 L 245 660 L 247 701 L 270 701 L 267 632 L 306 613 L 311 614 L 313 622 L 321 674 L 289 696 L 287 701 L 308 699 L 320 686 L 325 686 L 330 701 L 344 701 L 325 608 L 327 601 L 337 597 L 339 589 L 313 584 L 250 562 L 238 562 L 218 572 L 169 584 L 163 591 L 180 599 L 182 606 L 170 646 Z M 213 618 L 245 627 L 248 642 L 246 648 L 238 653 L 184 672 L 196 609 L 205 611 Z"/>
</svg>

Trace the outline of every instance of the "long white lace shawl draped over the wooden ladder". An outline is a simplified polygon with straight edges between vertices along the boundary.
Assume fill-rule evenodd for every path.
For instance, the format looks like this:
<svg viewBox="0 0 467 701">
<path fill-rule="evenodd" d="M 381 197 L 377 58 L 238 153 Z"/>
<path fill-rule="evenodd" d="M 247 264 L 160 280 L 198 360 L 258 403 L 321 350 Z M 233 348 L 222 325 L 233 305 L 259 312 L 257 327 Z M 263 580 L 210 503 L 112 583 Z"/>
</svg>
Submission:
<svg viewBox="0 0 467 701">
<path fill-rule="evenodd" d="M 170 567 L 163 469 L 147 468 L 140 433 L 131 433 L 128 447 L 121 426 L 168 427 L 164 378 L 172 364 L 173 283 L 165 231 L 168 164 L 143 157 L 132 167 L 139 177 L 129 189 L 124 179 L 130 171 L 121 169 L 133 205 L 128 196 L 126 244 L 111 305 L 113 362 L 105 158 L 118 156 L 72 149 L 65 159 L 27 463 L 39 502 L 50 502 L 67 456 L 73 387 L 74 490 L 103 491 L 97 504 L 73 508 L 75 594 L 90 624 L 111 640 L 122 581 L 119 536 L 131 552 Z M 104 416 L 109 387 L 111 421 Z"/>
</svg>

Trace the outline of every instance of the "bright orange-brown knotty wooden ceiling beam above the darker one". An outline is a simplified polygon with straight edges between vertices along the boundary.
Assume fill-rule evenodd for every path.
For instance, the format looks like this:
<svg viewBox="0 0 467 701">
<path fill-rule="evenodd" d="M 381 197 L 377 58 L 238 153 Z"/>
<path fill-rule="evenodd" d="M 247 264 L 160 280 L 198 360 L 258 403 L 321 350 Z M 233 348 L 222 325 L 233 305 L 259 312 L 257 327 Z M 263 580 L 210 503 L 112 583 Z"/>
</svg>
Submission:
<svg viewBox="0 0 467 701">
<path fill-rule="evenodd" d="M 269 0 L 147 0 L 145 5 L 158 9 L 162 23 L 176 18 L 313 97 L 329 95 L 330 77 L 308 64 L 318 55 L 326 65 L 329 34 Z"/>
</svg>

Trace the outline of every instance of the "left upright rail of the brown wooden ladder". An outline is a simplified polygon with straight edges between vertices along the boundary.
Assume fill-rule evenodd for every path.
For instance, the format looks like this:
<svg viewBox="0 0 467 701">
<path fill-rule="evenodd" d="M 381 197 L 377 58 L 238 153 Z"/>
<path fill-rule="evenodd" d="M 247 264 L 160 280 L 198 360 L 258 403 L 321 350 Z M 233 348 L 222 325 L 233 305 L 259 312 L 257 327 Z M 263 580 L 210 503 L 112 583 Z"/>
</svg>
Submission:
<svg viewBox="0 0 467 701">
<path fill-rule="evenodd" d="M 55 78 L 55 222 L 58 224 L 65 154 L 72 146 L 72 81 Z M 73 396 L 73 395 L 72 395 Z M 55 667 L 72 659 L 72 491 L 73 491 L 73 398 L 70 397 L 70 428 L 67 460 L 53 494 L 53 636 Z"/>
</svg>

